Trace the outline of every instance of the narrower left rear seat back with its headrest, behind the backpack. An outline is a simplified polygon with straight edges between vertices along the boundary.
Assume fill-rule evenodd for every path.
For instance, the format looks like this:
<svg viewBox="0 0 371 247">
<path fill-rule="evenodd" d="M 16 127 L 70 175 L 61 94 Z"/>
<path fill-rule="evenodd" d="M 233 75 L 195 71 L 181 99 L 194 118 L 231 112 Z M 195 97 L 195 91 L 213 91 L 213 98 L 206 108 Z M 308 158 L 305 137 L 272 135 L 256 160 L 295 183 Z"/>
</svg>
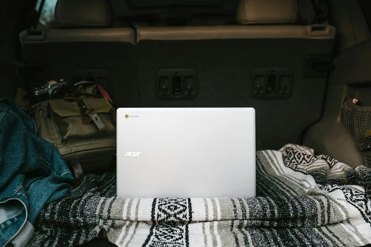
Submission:
<svg viewBox="0 0 371 247">
<path fill-rule="evenodd" d="M 135 32 L 113 21 L 108 0 L 59 0 L 58 29 L 20 34 L 24 59 L 49 67 L 53 79 L 94 80 L 119 106 L 138 106 Z"/>
</svg>

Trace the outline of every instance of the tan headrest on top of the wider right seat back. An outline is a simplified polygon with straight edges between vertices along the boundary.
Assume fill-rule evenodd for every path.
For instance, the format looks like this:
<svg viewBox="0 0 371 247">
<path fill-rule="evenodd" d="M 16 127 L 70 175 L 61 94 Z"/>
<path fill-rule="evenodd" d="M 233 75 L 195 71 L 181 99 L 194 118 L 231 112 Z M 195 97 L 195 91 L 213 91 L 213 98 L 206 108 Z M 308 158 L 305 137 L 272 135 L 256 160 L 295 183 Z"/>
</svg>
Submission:
<svg viewBox="0 0 371 247">
<path fill-rule="evenodd" d="M 240 0 L 236 17 L 242 25 L 295 23 L 298 3 L 296 0 Z"/>
</svg>

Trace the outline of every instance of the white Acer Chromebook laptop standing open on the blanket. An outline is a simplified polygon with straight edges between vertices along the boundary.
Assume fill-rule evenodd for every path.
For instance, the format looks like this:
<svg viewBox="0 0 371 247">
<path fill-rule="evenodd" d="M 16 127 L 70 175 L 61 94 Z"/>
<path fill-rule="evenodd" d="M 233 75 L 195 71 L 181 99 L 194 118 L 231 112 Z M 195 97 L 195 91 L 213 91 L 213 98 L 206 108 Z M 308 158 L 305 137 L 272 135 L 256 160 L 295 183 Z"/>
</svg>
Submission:
<svg viewBox="0 0 371 247">
<path fill-rule="evenodd" d="M 255 183 L 255 109 L 117 110 L 119 197 L 255 197 Z"/>
</svg>

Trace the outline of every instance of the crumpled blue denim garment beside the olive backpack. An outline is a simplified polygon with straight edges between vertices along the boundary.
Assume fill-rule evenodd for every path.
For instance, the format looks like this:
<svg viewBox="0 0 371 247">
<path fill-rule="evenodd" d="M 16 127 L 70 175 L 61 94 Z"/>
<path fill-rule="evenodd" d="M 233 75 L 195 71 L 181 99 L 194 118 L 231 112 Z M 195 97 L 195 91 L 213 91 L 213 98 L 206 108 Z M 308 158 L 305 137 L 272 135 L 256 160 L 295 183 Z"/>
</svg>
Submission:
<svg viewBox="0 0 371 247">
<path fill-rule="evenodd" d="M 72 181 L 55 146 L 36 136 L 35 122 L 14 101 L 0 98 L 0 247 L 26 221 L 34 224 L 45 204 L 68 196 Z"/>
</svg>

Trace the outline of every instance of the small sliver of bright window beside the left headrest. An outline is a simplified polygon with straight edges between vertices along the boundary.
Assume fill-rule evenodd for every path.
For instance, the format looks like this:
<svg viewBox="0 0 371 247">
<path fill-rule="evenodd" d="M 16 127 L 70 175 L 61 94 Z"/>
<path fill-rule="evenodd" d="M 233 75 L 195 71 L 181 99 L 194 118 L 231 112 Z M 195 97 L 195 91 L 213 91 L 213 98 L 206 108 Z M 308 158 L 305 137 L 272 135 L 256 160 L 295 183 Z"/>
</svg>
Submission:
<svg viewBox="0 0 371 247">
<path fill-rule="evenodd" d="M 58 0 L 45 0 L 39 17 L 39 29 L 55 28 L 54 11 Z M 42 0 L 37 0 L 35 9 L 40 12 Z"/>
</svg>

